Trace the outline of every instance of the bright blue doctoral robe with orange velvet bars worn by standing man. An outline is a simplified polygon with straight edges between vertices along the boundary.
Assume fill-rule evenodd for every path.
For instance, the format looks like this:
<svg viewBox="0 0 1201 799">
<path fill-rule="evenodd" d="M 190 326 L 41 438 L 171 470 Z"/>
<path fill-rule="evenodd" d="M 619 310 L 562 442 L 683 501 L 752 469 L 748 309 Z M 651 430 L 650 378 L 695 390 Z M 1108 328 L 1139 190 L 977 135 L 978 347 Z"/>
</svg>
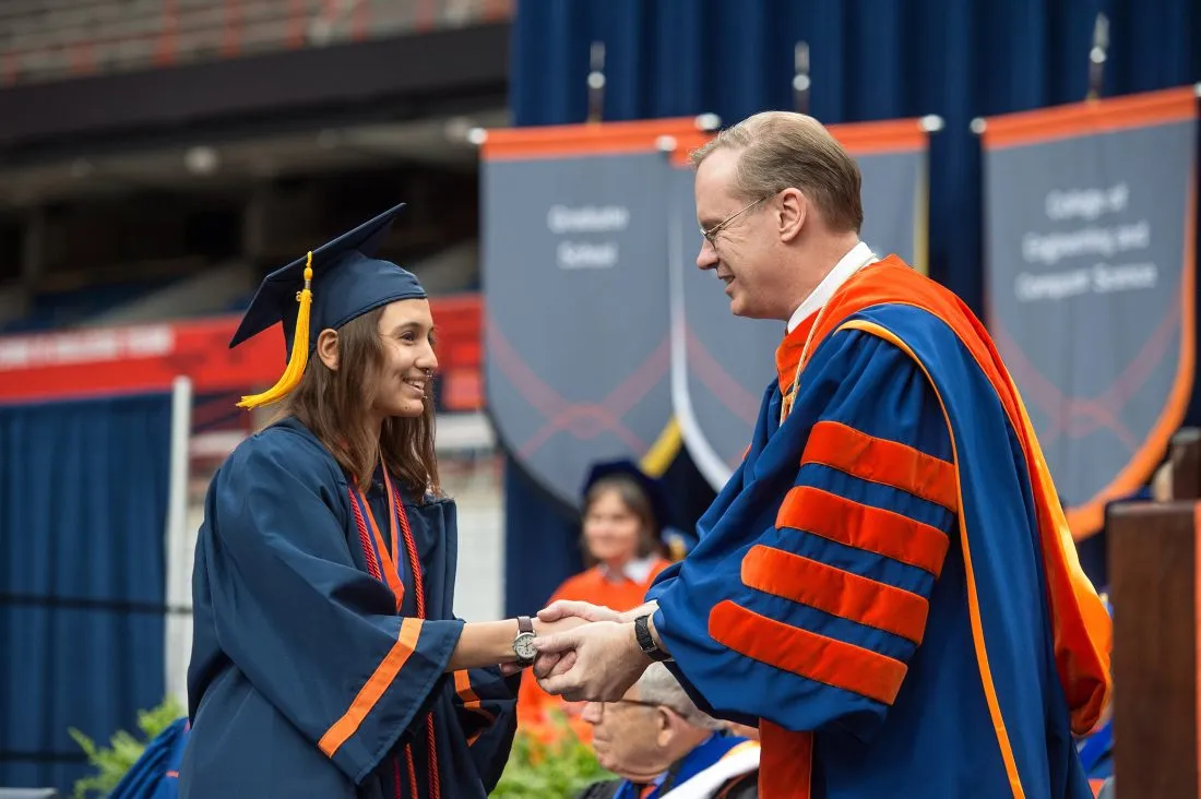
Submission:
<svg viewBox="0 0 1201 799">
<path fill-rule="evenodd" d="M 1078 614 L 1064 594 L 1050 607 L 1047 570 L 1065 585 L 1071 555 L 1046 555 L 1062 542 L 1040 533 L 1040 455 L 967 317 L 920 306 L 938 290 L 919 280 L 889 258 L 850 284 L 896 302 L 831 300 L 787 419 L 794 369 L 700 543 L 647 594 L 655 622 L 704 709 L 760 726 L 765 799 L 1087 799 L 1069 705 L 1104 704 L 1107 628 L 1063 632 Z"/>
</svg>

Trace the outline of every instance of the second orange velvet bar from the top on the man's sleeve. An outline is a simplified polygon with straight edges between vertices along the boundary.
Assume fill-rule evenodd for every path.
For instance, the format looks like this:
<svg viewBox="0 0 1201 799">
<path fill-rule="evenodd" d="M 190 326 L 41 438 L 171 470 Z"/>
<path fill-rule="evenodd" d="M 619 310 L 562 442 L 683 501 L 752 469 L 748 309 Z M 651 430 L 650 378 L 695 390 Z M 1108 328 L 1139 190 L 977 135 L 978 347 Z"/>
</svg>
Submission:
<svg viewBox="0 0 1201 799">
<path fill-rule="evenodd" d="M 803 530 L 839 544 L 898 560 L 938 577 L 950 539 L 907 515 L 852 502 L 811 485 L 788 491 L 776 527 Z"/>
</svg>

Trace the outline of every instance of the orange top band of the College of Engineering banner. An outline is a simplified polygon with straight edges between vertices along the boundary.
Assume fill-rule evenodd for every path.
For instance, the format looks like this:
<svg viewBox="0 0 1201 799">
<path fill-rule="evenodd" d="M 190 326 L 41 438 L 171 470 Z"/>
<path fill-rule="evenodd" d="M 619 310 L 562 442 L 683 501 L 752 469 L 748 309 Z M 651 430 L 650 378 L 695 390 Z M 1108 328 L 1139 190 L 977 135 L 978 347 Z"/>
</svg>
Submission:
<svg viewBox="0 0 1201 799">
<path fill-rule="evenodd" d="M 988 117 L 981 144 L 985 149 L 1041 144 L 1076 136 L 1170 125 L 1196 117 L 1196 90 L 1182 87 Z"/>
</svg>

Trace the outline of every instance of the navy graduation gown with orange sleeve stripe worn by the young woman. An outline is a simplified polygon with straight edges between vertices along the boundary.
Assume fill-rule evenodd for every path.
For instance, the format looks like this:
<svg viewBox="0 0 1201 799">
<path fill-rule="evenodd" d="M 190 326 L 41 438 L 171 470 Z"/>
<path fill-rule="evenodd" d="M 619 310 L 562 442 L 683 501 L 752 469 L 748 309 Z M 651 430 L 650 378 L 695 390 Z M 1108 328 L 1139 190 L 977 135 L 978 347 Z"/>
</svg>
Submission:
<svg viewBox="0 0 1201 799">
<path fill-rule="evenodd" d="M 402 600 L 371 576 L 368 557 L 384 559 L 360 533 L 352 489 L 295 419 L 243 442 L 214 476 L 192 586 L 184 799 L 426 799 L 435 782 L 447 799 L 482 799 L 500 779 L 516 678 L 444 673 L 464 625 L 454 503 L 404 499 L 420 619 L 404 543 Z M 366 499 L 390 551 L 380 479 Z"/>
</svg>

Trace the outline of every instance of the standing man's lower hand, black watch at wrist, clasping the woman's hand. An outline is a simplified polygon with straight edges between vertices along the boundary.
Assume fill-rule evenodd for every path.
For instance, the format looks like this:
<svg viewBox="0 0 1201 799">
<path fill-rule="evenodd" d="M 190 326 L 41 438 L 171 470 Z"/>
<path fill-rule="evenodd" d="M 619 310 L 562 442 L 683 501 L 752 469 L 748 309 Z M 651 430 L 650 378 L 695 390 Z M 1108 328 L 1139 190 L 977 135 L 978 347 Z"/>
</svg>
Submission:
<svg viewBox="0 0 1201 799">
<path fill-rule="evenodd" d="M 538 684 L 568 702 L 616 702 L 651 664 L 633 624 L 596 621 L 536 638 L 534 646 L 540 652 L 534 662 Z M 551 662 L 543 655 L 557 657 Z"/>
</svg>

